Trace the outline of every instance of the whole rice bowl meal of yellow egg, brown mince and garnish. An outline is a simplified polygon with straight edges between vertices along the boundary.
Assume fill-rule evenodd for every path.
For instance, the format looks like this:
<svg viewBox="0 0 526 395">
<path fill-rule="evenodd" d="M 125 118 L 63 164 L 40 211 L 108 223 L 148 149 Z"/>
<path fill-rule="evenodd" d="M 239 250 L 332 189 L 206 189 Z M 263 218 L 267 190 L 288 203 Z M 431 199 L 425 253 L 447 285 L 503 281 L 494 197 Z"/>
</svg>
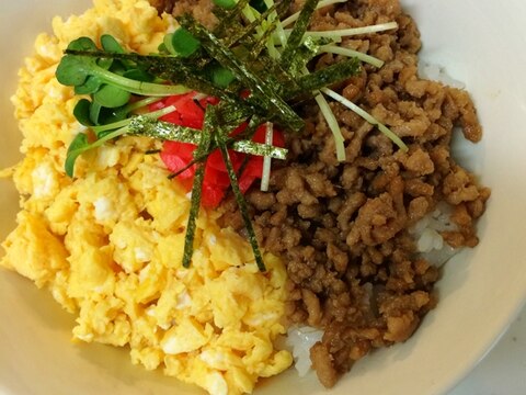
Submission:
<svg viewBox="0 0 526 395">
<path fill-rule="evenodd" d="M 482 129 L 419 74 L 398 0 L 94 0 L 37 36 L 12 101 L 1 266 L 210 394 L 295 365 L 332 387 L 409 339 L 490 190 Z M 455 268 L 446 268 L 455 270 Z M 286 339 L 286 340 L 284 340 Z"/>
</svg>

